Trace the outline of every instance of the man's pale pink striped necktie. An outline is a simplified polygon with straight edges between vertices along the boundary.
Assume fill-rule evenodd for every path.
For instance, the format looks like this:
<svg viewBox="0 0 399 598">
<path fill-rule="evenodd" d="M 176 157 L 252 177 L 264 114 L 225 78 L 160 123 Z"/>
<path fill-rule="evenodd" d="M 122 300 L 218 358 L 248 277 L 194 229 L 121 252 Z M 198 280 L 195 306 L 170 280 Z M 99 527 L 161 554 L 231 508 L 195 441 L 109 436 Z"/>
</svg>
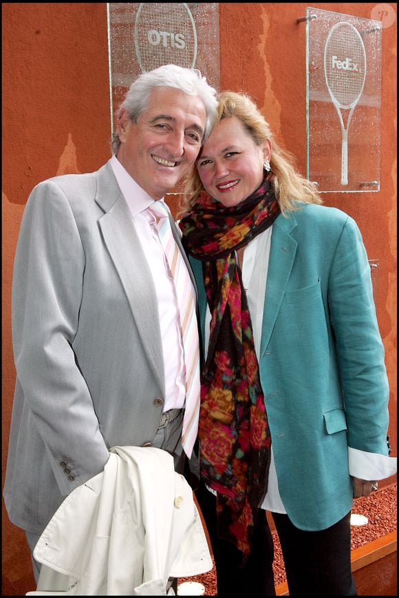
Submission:
<svg viewBox="0 0 399 598">
<path fill-rule="evenodd" d="M 157 219 L 158 237 L 175 285 L 180 314 L 184 365 L 186 366 L 186 402 L 182 427 L 182 446 L 191 457 L 200 416 L 200 344 L 195 316 L 195 291 L 180 249 L 173 237 L 169 213 L 164 202 L 156 201 L 149 211 Z"/>
</svg>

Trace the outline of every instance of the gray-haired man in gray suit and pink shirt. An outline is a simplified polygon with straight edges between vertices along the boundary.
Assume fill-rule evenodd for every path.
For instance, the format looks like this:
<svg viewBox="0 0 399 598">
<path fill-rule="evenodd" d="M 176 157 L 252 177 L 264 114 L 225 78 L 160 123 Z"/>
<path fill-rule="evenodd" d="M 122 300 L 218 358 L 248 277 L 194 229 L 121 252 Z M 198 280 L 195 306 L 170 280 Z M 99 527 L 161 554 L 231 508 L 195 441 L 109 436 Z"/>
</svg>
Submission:
<svg viewBox="0 0 399 598">
<path fill-rule="evenodd" d="M 148 209 L 190 169 L 216 106 L 197 70 L 144 73 L 120 107 L 109 162 L 41 182 L 29 197 L 12 286 L 17 383 L 4 498 L 31 550 L 111 447 L 165 449 L 177 471 L 191 456 L 179 307 Z"/>
</svg>

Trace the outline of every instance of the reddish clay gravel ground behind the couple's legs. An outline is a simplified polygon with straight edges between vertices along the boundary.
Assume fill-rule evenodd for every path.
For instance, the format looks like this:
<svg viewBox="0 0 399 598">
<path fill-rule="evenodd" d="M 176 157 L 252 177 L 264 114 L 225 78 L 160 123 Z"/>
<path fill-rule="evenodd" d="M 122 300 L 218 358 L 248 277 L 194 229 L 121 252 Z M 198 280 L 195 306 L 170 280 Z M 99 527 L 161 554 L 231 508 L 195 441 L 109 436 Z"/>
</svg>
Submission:
<svg viewBox="0 0 399 598">
<path fill-rule="evenodd" d="M 358 498 L 354 501 L 352 513 L 365 515 L 369 520 L 367 525 L 352 526 L 352 550 L 359 548 L 367 542 L 376 540 L 376 538 L 386 535 L 396 530 L 397 524 L 397 489 L 396 484 L 391 484 L 387 488 L 382 488 L 367 498 Z M 281 547 L 277 533 L 274 537 L 274 584 L 277 586 L 285 581 L 285 569 Z M 216 596 L 216 575 L 215 566 L 204 575 L 197 577 L 181 577 L 178 581 L 199 581 L 205 586 L 206 596 Z"/>
</svg>

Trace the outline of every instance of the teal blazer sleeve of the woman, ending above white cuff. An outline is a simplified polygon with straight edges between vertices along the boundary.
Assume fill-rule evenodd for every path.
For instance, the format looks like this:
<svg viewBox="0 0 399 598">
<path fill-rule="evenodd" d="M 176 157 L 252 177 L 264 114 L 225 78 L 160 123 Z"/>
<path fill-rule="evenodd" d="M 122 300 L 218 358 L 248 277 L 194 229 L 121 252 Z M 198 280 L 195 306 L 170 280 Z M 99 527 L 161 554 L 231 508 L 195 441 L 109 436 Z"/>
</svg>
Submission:
<svg viewBox="0 0 399 598">
<path fill-rule="evenodd" d="M 328 301 L 347 419 L 348 445 L 387 455 L 389 387 L 369 261 L 356 222 L 347 217 L 336 244 Z"/>
</svg>

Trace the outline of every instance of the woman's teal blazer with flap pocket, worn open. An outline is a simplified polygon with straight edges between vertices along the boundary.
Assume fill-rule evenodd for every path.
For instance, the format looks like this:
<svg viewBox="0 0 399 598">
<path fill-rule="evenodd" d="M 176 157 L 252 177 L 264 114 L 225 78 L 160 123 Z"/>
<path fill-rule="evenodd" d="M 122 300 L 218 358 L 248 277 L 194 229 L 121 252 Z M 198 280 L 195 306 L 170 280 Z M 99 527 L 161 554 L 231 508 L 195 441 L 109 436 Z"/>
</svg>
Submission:
<svg viewBox="0 0 399 598">
<path fill-rule="evenodd" d="M 285 510 L 298 528 L 327 528 L 352 509 L 348 446 L 387 455 L 389 420 L 370 266 L 342 211 L 301 204 L 275 220 L 259 369 Z"/>
</svg>

